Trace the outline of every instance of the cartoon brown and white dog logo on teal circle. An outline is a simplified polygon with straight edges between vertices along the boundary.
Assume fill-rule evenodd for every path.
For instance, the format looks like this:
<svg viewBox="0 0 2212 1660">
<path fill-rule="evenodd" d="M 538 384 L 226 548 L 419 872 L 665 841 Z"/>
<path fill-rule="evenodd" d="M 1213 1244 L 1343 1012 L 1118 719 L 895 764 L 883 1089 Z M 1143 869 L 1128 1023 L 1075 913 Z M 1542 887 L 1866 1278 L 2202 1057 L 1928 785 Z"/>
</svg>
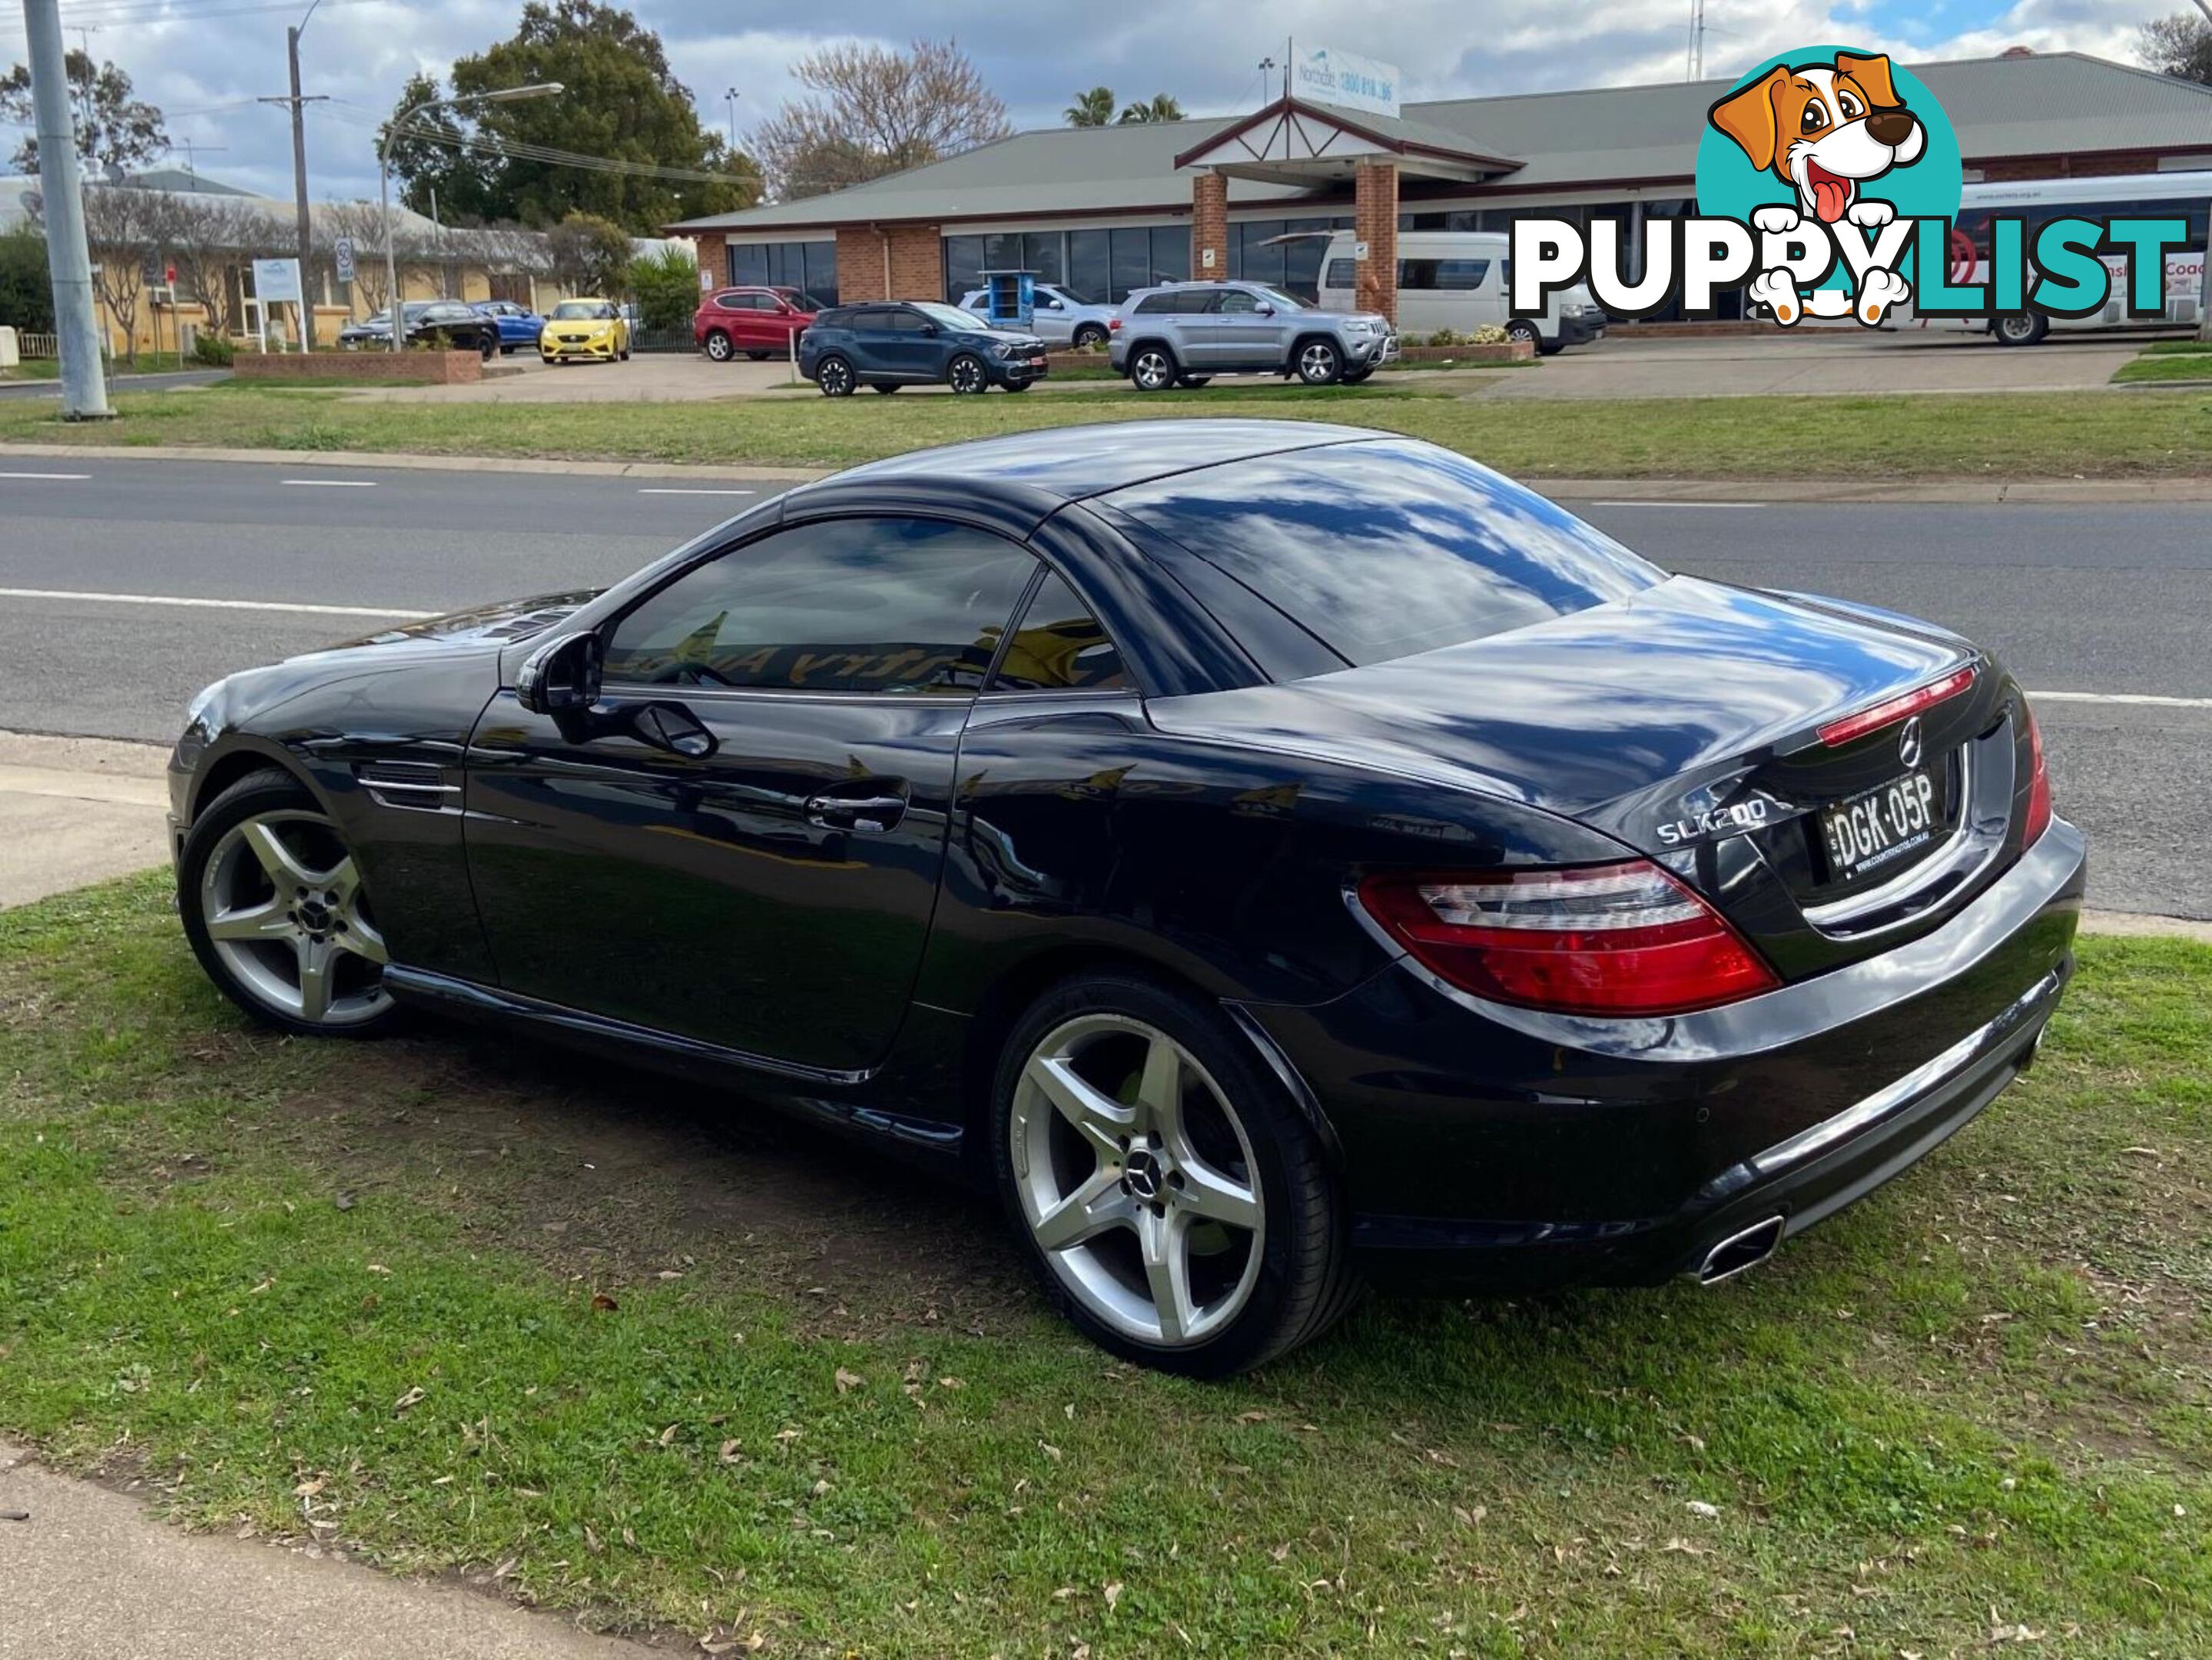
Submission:
<svg viewBox="0 0 2212 1660">
<path fill-rule="evenodd" d="M 1871 328 L 1909 301 L 1911 226 L 1898 219 L 1953 215 L 1960 177 L 1933 95 L 1885 53 L 1847 46 L 1754 69 L 1712 102 L 1699 146 L 1699 206 L 1759 232 L 1745 294 L 1783 325 Z"/>
</svg>

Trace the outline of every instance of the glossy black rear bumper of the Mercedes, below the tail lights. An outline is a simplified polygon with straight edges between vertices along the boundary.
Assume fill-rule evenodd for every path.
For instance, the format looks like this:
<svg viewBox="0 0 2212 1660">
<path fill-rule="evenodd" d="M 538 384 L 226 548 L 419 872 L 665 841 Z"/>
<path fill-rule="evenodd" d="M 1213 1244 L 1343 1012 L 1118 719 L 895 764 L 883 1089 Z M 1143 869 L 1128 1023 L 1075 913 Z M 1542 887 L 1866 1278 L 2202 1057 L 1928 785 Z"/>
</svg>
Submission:
<svg viewBox="0 0 2212 1660">
<path fill-rule="evenodd" d="M 1504 1011 L 1402 961 L 1248 1014 L 1329 1122 L 1374 1277 L 1650 1284 L 1814 1226 L 1982 1111 L 2073 976 L 2084 870 L 2059 821 L 1933 934 L 1701 1016 Z"/>
</svg>

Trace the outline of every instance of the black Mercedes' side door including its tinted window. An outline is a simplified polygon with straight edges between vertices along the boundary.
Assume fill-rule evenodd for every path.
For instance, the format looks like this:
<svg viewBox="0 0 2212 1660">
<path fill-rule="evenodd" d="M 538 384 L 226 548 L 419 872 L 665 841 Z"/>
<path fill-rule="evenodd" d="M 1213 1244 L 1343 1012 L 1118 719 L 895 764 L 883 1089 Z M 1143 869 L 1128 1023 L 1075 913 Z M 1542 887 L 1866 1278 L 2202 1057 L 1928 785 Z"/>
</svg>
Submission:
<svg viewBox="0 0 2212 1660">
<path fill-rule="evenodd" d="M 1035 558 L 942 518 L 818 518 L 604 624 L 597 704 L 502 691 L 467 770 L 500 983 L 854 1071 L 929 934 L 960 733 Z"/>
</svg>

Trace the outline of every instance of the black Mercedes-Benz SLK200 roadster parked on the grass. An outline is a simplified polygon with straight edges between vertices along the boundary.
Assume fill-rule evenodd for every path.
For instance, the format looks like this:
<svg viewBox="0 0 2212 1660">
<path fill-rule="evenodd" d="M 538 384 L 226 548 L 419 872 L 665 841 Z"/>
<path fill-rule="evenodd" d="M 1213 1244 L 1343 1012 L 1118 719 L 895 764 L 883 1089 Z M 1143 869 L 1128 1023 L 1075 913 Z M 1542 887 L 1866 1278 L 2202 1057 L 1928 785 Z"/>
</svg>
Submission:
<svg viewBox="0 0 2212 1660">
<path fill-rule="evenodd" d="M 858 467 L 232 675 L 170 788 L 250 1014 L 774 1100 L 993 1184 L 1199 1374 L 1363 1279 L 1759 1262 L 2028 1065 L 2084 874 L 1966 640 L 1310 423 Z"/>
</svg>

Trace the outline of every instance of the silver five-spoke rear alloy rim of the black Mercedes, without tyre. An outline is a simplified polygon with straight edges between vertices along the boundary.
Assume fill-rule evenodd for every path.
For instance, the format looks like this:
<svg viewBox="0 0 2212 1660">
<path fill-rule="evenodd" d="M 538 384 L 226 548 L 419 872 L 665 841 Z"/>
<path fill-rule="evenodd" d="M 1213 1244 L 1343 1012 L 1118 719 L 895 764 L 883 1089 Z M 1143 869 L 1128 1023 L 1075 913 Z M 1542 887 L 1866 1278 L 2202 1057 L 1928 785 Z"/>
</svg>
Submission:
<svg viewBox="0 0 2212 1660">
<path fill-rule="evenodd" d="M 1265 1237 L 1252 1140 L 1183 1045 L 1126 1014 L 1044 1036 L 1009 1109 L 1022 1217 L 1115 1332 L 1190 1348 L 1250 1304 Z"/>
</svg>

